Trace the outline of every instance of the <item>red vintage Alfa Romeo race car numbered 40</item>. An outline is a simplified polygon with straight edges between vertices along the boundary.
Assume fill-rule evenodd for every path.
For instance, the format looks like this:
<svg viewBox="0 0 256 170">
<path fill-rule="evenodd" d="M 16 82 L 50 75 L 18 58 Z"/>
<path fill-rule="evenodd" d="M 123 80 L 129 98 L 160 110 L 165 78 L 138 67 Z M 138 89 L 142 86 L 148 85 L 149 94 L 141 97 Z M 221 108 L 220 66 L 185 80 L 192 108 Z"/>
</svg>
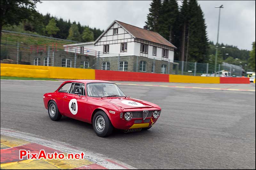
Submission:
<svg viewBox="0 0 256 170">
<path fill-rule="evenodd" d="M 101 80 L 65 81 L 43 98 L 53 121 L 63 115 L 92 123 L 100 137 L 110 135 L 113 128 L 125 132 L 149 129 L 161 113 L 159 106 L 127 97 L 115 83 Z"/>
</svg>

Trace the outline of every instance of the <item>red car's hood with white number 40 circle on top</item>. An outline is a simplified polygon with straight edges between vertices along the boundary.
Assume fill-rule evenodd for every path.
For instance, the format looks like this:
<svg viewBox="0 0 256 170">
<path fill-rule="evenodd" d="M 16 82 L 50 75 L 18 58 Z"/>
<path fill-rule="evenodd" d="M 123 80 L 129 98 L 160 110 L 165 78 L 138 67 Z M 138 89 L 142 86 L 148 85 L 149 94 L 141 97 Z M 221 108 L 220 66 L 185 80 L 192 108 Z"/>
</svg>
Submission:
<svg viewBox="0 0 256 170">
<path fill-rule="evenodd" d="M 157 107 L 157 105 L 153 103 L 132 98 L 103 98 L 101 100 L 116 104 L 124 108 Z"/>
</svg>

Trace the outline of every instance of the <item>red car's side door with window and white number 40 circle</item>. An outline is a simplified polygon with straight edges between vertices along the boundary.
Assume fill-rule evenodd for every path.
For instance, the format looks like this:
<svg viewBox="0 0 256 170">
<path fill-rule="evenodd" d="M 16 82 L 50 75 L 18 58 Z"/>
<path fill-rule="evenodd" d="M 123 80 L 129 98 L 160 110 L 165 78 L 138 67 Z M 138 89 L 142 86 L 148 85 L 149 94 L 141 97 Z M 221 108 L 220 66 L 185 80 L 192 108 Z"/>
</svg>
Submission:
<svg viewBox="0 0 256 170">
<path fill-rule="evenodd" d="M 84 121 L 86 101 L 84 84 L 72 83 L 69 93 L 63 97 L 64 115 Z"/>
</svg>

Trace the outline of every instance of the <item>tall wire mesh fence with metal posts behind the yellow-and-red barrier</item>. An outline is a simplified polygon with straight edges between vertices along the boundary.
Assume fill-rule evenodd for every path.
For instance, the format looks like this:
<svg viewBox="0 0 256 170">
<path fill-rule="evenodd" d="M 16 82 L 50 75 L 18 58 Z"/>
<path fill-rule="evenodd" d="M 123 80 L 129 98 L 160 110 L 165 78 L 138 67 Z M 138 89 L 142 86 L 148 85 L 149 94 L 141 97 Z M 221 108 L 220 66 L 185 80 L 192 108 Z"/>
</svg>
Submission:
<svg viewBox="0 0 256 170">
<path fill-rule="evenodd" d="M 1 43 L 1 63 L 19 63 L 30 65 L 73 67 L 98 70 L 148 72 L 188 76 L 226 76 L 242 77 L 242 66 L 229 63 L 194 63 L 185 61 L 159 60 L 142 56 L 103 53 L 80 47 L 47 44 L 25 46 L 21 43 Z"/>
</svg>

